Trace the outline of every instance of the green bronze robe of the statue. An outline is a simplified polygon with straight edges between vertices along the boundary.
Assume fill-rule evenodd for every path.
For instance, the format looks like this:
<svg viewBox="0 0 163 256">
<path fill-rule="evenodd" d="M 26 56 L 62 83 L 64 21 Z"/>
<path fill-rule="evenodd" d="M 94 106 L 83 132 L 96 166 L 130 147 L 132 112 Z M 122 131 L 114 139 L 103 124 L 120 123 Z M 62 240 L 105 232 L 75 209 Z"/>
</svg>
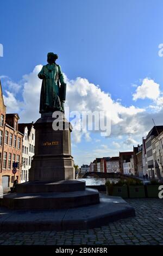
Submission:
<svg viewBox="0 0 163 256">
<path fill-rule="evenodd" d="M 60 101 L 60 85 L 64 84 L 64 76 L 60 65 L 55 63 L 42 67 L 39 78 L 42 79 L 40 95 L 40 113 L 64 111 Z"/>
</svg>

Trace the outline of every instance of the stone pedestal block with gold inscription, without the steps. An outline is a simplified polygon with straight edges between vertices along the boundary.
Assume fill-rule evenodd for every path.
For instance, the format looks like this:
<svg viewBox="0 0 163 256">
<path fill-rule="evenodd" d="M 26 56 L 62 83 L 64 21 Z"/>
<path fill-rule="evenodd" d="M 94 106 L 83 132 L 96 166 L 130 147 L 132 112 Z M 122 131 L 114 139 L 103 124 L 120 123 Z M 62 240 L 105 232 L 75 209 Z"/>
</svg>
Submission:
<svg viewBox="0 0 163 256">
<path fill-rule="evenodd" d="M 53 130 L 52 113 L 41 115 L 35 128 L 35 155 L 29 170 L 29 181 L 73 180 L 74 167 L 71 156 L 71 124 L 64 118 L 64 130 Z"/>
</svg>

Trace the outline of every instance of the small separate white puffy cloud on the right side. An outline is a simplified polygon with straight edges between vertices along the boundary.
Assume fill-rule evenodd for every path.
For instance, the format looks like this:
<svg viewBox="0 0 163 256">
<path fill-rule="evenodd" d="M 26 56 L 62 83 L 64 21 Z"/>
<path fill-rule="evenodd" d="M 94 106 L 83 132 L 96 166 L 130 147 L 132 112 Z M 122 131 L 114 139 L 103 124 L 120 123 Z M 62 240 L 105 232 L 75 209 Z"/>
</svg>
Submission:
<svg viewBox="0 0 163 256">
<path fill-rule="evenodd" d="M 137 99 L 151 99 L 156 100 L 160 95 L 160 86 L 155 83 L 154 80 L 145 78 L 142 81 L 141 86 L 136 88 L 136 93 L 133 94 L 133 100 Z"/>
</svg>

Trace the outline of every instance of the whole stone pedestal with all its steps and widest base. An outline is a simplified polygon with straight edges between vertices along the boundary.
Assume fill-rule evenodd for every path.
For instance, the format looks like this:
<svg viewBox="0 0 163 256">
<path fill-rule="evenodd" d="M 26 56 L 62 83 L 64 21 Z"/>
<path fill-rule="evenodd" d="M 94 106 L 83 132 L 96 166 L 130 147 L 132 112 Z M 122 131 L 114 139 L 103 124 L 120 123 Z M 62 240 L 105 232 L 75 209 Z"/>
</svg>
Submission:
<svg viewBox="0 0 163 256">
<path fill-rule="evenodd" d="M 54 131 L 53 121 L 52 115 L 45 114 L 34 124 L 35 156 L 29 181 L 17 184 L 15 193 L 0 199 L 0 230 L 85 229 L 135 216 L 121 198 L 100 201 L 97 190 L 74 180 L 71 124 L 64 120 L 66 129 Z"/>
</svg>

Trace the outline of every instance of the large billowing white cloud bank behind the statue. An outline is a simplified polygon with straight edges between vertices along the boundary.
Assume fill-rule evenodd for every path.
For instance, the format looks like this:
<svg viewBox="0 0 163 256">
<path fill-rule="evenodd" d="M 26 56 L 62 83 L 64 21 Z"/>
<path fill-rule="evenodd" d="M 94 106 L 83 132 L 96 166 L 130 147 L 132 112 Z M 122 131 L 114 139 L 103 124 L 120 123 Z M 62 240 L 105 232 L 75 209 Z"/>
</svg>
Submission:
<svg viewBox="0 0 163 256">
<path fill-rule="evenodd" d="M 30 74 L 23 76 L 21 80 L 22 101 L 18 101 L 17 94 L 9 92 L 9 90 L 4 95 L 8 113 L 18 112 L 21 122 L 36 121 L 40 117 L 41 80 L 37 77 L 37 74 L 41 68 L 42 65 L 37 65 Z M 67 83 L 66 106 L 70 107 L 70 111 L 75 110 L 80 113 L 82 111 L 105 111 L 111 117 L 110 137 L 122 139 L 124 135 L 129 137 L 146 136 L 145 132 L 153 126 L 153 113 L 148 113 L 145 109 L 135 106 L 123 106 L 121 102 L 112 100 L 108 93 L 103 92 L 99 86 L 90 83 L 87 79 L 78 77 L 76 80 L 68 80 L 65 75 L 65 81 Z M 159 100 L 160 110 L 159 113 L 155 113 L 156 124 L 158 125 L 162 124 L 161 97 L 159 97 Z M 96 132 L 98 133 L 98 131 Z M 73 143 L 80 143 L 82 138 L 91 141 L 91 137 L 91 131 L 72 132 Z M 118 147 L 118 145 L 115 144 L 115 147 Z"/>
</svg>

